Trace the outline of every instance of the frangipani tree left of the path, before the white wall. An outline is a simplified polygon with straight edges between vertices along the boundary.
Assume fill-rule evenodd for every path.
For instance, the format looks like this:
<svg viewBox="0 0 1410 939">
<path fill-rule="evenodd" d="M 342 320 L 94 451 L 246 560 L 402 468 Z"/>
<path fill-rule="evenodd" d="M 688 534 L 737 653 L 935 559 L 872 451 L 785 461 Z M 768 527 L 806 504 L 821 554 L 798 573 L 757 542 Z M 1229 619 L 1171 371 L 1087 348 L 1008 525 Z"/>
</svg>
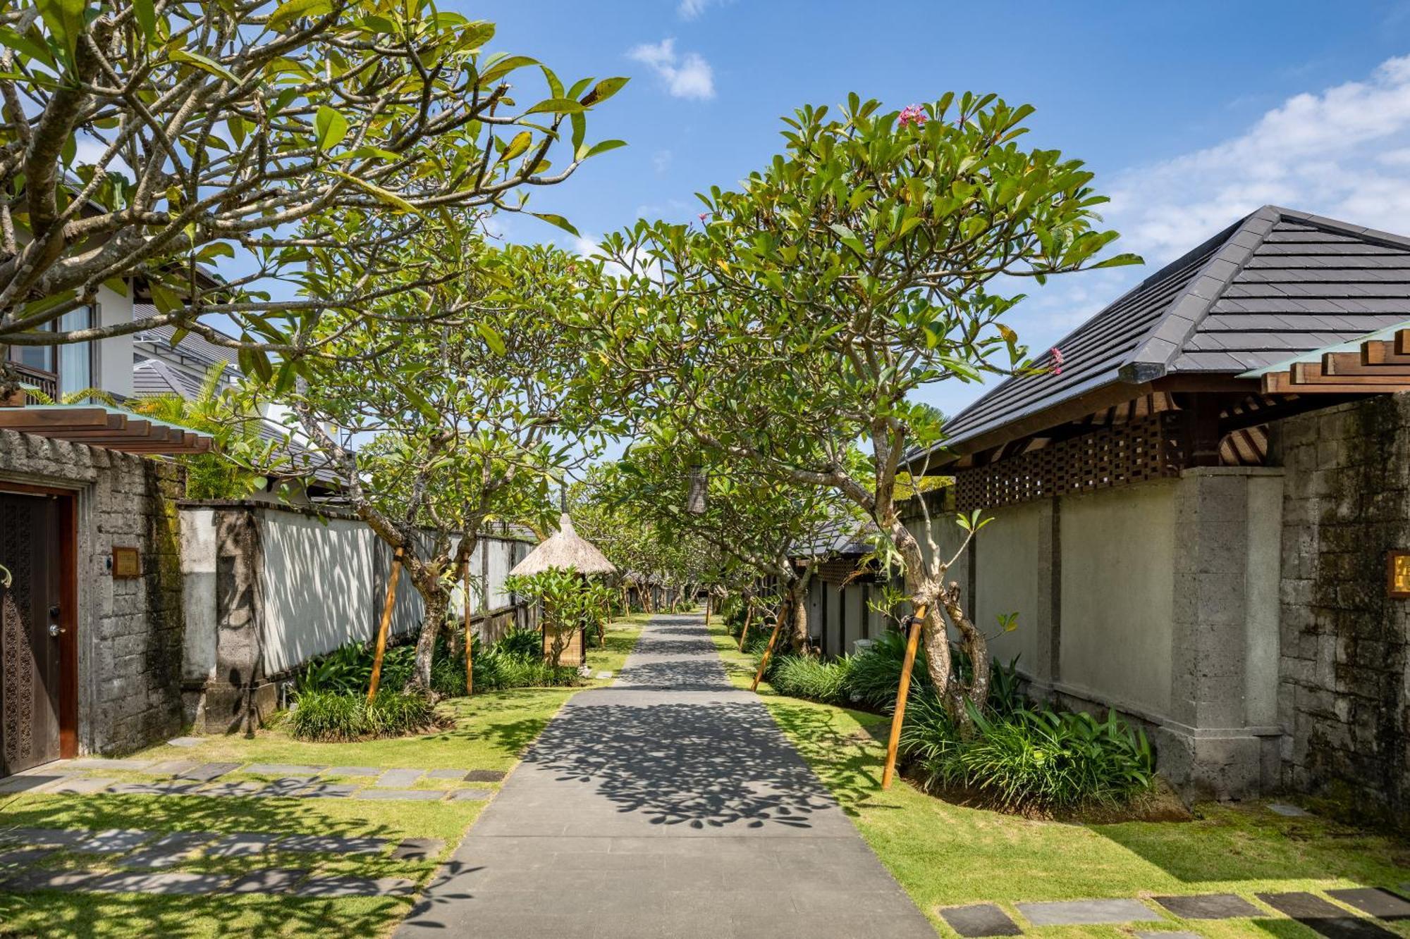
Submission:
<svg viewBox="0 0 1410 939">
<path fill-rule="evenodd" d="M 415 680 L 423 687 L 450 587 L 484 524 L 547 524 L 550 486 L 589 455 L 563 434 L 592 423 L 574 395 L 585 350 L 554 319 L 592 265 L 554 248 L 492 251 L 468 226 L 440 235 L 436 252 L 474 252 L 484 274 L 391 297 L 386 316 L 343 329 L 337 354 L 312 361 L 307 381 L 274 378 L 298 430 L 422 595 Z M 444 321 L 403 317 L 400 303 L 460 312 Z"/>
</svg>

